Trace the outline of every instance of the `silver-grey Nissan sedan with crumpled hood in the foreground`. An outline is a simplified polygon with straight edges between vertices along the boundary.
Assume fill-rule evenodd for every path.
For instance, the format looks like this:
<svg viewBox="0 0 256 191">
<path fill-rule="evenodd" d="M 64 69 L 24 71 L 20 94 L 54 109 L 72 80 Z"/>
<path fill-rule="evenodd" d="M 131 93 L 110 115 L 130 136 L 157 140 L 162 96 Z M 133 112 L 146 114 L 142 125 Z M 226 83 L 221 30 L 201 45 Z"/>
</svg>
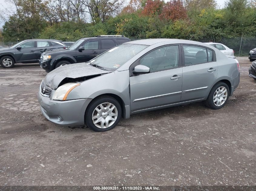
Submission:
<svg viewBox="0 0 256 191">
<path fill-rule="evenodd" d="M 53 123 L 86 124 L 103 132 L 114 128 L 121 116 L 128 119 L 165 107 L 204 100 L 208 107 L 221 109 L 239 81 L 238 61 L 213 46 L 190 40 L 136 40 L 88 64 L 48 73 L 38 100 L 42 114 Z"/>
</svg>

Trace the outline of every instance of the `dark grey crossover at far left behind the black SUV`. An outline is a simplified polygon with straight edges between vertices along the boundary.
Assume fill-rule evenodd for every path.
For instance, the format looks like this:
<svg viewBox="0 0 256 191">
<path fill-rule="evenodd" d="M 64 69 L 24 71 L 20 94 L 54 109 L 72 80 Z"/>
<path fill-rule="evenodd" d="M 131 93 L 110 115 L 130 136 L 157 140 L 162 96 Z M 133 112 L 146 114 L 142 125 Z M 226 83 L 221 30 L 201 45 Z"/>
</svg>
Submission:
<svg viewBox="0 0 256 191">
<path fill-rule="evenodd" d="M 23 40 L 10 48 L 0 49 L 0 64 L 12 68 L 15 63 L 35 63 L 39 62 L 43 52 L 65 48 L 67 46 L 61 40 Z"/>
</svg>

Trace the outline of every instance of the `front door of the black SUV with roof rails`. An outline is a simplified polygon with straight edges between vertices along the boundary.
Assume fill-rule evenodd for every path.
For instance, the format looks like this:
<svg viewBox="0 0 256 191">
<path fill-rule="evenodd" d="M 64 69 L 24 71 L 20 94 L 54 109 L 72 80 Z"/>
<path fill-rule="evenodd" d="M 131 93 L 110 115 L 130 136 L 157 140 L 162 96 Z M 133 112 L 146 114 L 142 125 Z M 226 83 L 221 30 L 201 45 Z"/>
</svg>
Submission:
<svg viewBox="0 0 256 191">
<path fill-rule="evenodd" d="M 101 53 L 98 40 L 89 40 L 85 42 L 82 46 L 84 46 L 84 50 L 76 50 L 77 63 L 87 62 Z"/>
</svg>

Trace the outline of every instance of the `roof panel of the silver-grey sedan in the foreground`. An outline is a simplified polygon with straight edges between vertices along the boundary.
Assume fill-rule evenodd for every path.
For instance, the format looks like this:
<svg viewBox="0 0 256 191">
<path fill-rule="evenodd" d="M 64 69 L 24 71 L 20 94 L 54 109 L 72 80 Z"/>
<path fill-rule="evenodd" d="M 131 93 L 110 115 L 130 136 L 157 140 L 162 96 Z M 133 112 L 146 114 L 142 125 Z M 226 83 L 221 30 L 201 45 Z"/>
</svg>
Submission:
<svg viewBox="0 0 256 191">
<path fill-rule="evenodd" d="M 143 39 L 143 40 L 134 40 L 127 42 L 126 44 L 143 44 L 143 45 L 153 45 L 156 43 L 162 43 L 162 42 L 168 42 L 170 44 L 195 44 L 195 45 L 204 45 L 204 43 L 200 43 L 197 41 L 193 40 L 183 40 L 183 39 L 166 39 L 166 38 L 161 38 L 161 39 Z"/>
</svg>

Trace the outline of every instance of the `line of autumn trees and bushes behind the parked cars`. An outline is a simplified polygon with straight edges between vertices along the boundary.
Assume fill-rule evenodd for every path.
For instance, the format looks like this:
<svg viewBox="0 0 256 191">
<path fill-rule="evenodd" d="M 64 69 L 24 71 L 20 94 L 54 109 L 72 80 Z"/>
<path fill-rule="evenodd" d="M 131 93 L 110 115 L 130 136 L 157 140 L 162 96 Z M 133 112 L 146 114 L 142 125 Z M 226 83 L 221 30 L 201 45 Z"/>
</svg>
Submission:
<svg viewBox="0 0 256 191">
<path fill-rule="evenodd" d="M 3 41 L 45 38 L 74 41 L 97 35 L 198 40 L 256 35 L 256 1 L 227 0 L 7 0 Z"/>
</svg>

